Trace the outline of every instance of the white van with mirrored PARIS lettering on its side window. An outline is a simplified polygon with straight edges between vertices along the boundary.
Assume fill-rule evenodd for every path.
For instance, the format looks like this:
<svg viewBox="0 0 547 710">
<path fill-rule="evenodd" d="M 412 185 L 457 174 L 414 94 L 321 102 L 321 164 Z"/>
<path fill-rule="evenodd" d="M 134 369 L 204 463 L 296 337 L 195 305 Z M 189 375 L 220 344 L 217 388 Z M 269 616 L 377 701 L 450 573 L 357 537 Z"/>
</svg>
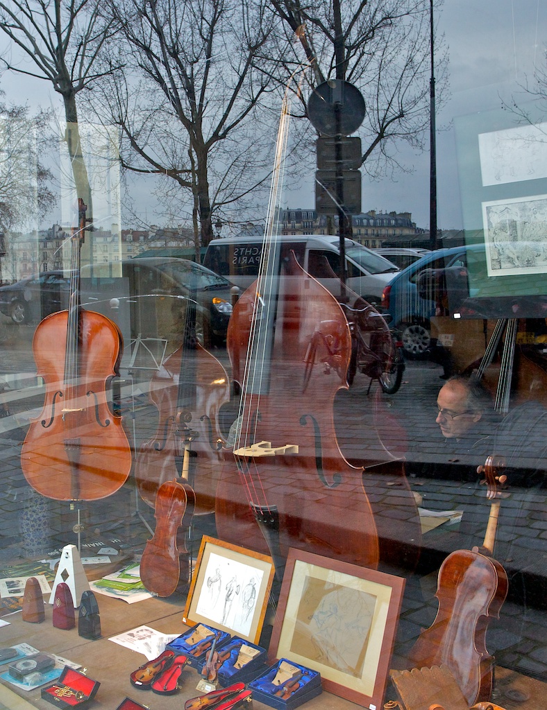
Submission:
<svg viewBox="0 0 547 710">
<path fill-rule="evenodd" d="M 293 251 L 300 266 L 316 278 L 332 295 L 340 298 L 340 239 L 332 234 L 299 234 L 278 236 L 281 253 Z M 260 236 L 233 236 L 212 239 L 205 251 L 203 265 L 232 281 L 242 290 L 248 288 L 259 273 L 263 240 Z M 346 285 L 370 303 L 380 303 L 381 293 L 399 272 L 383 256 L 345 240 Z"/>
</svg>

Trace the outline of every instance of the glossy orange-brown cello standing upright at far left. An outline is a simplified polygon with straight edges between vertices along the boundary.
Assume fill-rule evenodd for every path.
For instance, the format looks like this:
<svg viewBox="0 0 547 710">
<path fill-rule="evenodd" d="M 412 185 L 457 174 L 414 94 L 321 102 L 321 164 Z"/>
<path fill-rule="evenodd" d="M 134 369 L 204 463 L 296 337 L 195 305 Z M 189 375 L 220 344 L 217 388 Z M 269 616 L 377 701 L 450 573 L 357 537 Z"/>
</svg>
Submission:
<svg viewBox="0 0 547 710">
<path fill-rule="evenodd" d="M 79 229 L 71 237 L 68 310 L 45 317 L 33 337 L 45 401 L 21 451 L 28 484 L 57 501 L 111 496 L 131 471 L 129 442 L 121 417 L 109 408 L 108 397 L 123 348 L 121 332 L 104 315 L 80 306 L 80 247 L 86 210 L 80 198 Z"/>
</svg>

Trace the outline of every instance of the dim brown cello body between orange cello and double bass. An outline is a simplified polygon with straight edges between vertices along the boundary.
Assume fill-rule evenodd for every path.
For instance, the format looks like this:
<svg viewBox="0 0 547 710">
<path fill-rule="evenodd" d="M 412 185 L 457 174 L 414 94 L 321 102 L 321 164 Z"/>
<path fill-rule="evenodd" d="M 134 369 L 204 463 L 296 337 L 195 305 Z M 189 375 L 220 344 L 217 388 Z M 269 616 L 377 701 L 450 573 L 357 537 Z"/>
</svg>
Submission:
<svg viewBox="0 0 547 710">
<path fill-rule="evenodd" d="M 189 362 L 187 368 L 183 359 Z M 181 378 L 191 380 L 192 391 L 182 400 Z M 156 434 L 142 444 L 135 462 L 135 480 L 141 498 L 155 507 L 158 489 L 181 475 L 183 442 L 190 436 L 190 469 L 193 459 L 196 468 L 191 479 L 196 496 L 194 514 L 212 513 L 224 443 L 218 413 L 229 400 L 226 371 L 199 343 L 190 351 L 180 346 L 154 373 L 149 398 L 158 410 L 159 419 Z"/>
</svg>

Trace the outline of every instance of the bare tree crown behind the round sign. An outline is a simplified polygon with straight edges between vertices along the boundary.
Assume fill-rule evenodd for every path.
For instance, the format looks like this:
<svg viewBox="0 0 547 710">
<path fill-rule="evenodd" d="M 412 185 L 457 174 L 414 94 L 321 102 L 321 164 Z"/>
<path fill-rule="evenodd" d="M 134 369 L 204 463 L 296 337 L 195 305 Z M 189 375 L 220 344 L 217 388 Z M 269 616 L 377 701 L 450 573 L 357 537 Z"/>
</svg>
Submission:
<svg viewBox="0 0 547 710">
<path fill-rule="evenodd" d="M 362 93 L 367 107 L 359 130 L 362 166 L 373 178 L 386 168 L 404 169 L 396 141 L 423 148 L 429 124 L 429 0 L 272 0 L 288 35 L 300 50 L 284 54 L 287 71 L 302 61 L 311 67 L 310 90 L 328 79 L 345 80 Z M 435 3 L 437 4 L 437 3 Z M 445 56 L 438 47 L 438 93 L 445 88 Z M 308 92 L 309 94 L 309 92 Z M 304 96 L 303 99 L 306 97 Z"/>
</svg>

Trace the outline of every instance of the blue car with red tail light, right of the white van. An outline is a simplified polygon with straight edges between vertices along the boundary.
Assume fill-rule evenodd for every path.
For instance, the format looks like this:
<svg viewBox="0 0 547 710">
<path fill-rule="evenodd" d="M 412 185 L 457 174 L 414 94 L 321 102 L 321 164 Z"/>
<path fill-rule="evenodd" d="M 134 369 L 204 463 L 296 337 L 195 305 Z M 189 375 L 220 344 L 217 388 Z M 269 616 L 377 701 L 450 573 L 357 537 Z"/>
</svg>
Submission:
<svg viewBox="0 0 547 710">
<path fill-rule="evenodd" d="M 454 246 L 450 249 L 430 251 L 426 256 L 400 271 L 384 288 L 381 308 L 391 315 L 391 327 L 401 333 L 406 356 L 410 358 L 426 356 L 435 346 L 430 335 L 430 318 L 435 315 L 438 302 L 433 297 L 427 297 L 432 295 L 430 291 L 426 290 L 424 293 L 424 289 L 420 288 L 423 272 L 449 267 L 465 268 L 467 249 L 470 247 Z"/>
</svg>

